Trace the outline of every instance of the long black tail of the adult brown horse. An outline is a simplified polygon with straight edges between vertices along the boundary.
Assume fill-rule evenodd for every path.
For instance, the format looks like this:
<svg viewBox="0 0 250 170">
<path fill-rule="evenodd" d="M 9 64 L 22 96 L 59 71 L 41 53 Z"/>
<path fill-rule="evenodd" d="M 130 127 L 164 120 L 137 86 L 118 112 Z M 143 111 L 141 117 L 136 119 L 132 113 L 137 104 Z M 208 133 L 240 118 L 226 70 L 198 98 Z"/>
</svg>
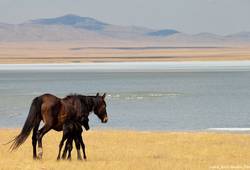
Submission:
<svg viewBox="0 0 250 170">
<path fill-rule="evenodd" d="M 28 117 L 23 125 L 22 131 L 19 135 L 17 135 L 12 141 L 12 145 L 10 149 L 13 151 L 17 149 L 21 144 L 25 142 L 28 138 L 31 130 L 34 126 L 40 122 L 40 115 L 41 115 L 41 99 L 36 97 L 30 106 L 30 111 Z"/>
</svg>

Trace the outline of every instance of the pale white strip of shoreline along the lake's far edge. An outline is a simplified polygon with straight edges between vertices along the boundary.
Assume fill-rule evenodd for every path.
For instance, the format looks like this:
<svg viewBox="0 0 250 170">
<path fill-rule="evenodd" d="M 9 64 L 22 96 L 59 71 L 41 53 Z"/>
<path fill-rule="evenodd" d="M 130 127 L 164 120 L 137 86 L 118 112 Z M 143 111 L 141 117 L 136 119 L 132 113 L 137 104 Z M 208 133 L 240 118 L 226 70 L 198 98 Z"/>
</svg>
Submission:
<svg viewBox="0 0 250 170">
<path fill-rule="evenodd" d="M 244 71 L 250 60 L 243 61 L 169 61 L 169 62 L 89 62 L 52 64 L 0 64 L 0 71 Z"/>
</svg>

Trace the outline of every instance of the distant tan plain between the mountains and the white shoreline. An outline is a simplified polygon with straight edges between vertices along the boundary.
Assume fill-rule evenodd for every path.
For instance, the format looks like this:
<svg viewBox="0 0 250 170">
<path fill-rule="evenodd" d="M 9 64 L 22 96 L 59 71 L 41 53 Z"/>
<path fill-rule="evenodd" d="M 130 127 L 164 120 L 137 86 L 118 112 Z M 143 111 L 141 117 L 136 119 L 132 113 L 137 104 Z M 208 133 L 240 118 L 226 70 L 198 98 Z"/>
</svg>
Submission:
<svg viewBox="0 0 250 170">
<path fill-rule="evenodd" d="M 0 63 L 83 63 L 133 61 L 250 60 L 250 47 L 166 47 L 130 43 L 0 43 Z M 146 48 L 145 48 L 146 47 Z"/>
</svg>

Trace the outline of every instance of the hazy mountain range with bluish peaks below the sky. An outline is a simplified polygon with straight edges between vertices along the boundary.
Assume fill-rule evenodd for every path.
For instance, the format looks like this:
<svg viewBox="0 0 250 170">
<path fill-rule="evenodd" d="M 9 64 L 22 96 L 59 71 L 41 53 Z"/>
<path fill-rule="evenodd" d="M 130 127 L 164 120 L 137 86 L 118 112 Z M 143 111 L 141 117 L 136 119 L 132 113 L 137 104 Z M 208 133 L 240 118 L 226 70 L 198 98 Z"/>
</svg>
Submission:
<svg viewBox="0 0 250 170">
<path fill-rule="evenodd" d="M 250 32 L 231 35 L 185 34 L 174 29 L 119 26 L 68 14 L 21 24 L 0 23 L 0 42 L 20 41 L 152 41 L 167 43 L 250 43 Z"/>
</svg>

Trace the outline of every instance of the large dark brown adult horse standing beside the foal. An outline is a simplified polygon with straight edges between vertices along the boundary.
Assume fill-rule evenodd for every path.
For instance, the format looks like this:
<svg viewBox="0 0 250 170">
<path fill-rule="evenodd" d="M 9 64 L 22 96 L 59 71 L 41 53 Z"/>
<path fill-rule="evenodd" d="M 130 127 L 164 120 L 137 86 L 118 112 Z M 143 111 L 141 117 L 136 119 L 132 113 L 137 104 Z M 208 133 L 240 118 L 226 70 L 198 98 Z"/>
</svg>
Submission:
<svg viewBox="0 0 250 170">
<path fill-rule="evenodd" d="M 63 125 L 66 120 L 72 117 L 81 118 L 82 116 L 88 117 L 90 112 L 94 112 L 102 123 L 108 121 L 106 112 L 105 95 L 100 96 L 84 96 L 84 95 L 69 95 L 60 99 L 51 94 L 44 94 L 33 99 L 30 106 L 28 117 L 24 126 L 18 136 L 13 140 L 11 149 L 17 149 L 22 143 L 25 142 L 33 129 L 32 145 L 33 145 L 33 158 L 42 158 L 42 138 L 43 136 L 54 129 L 62 131 Z M 44 126 L 38 130 L 40 122 L 43 121 Z M 38 156 L 36 153 L 36 144 L 38 142 Z"/>
</svg>

